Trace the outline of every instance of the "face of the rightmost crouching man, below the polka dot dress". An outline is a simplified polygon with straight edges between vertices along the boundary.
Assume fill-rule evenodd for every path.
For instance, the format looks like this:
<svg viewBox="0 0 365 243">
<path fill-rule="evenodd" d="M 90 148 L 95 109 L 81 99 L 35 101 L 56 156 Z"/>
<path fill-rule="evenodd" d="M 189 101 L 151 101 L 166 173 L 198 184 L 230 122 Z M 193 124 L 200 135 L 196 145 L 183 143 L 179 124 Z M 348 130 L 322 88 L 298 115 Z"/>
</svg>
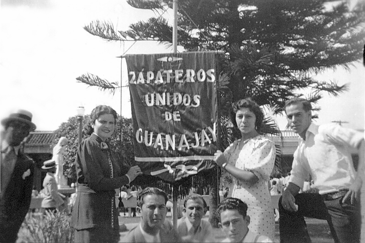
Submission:
<svg viewBox="0 0 365 243">
<path fill-rule="evenodd" d="M 230 242 L 242 242 L 249 231 L 250 216 L 243 217 L 238 210 L 227 209 L 220 213 L 219 226 Z"/>
</svg>

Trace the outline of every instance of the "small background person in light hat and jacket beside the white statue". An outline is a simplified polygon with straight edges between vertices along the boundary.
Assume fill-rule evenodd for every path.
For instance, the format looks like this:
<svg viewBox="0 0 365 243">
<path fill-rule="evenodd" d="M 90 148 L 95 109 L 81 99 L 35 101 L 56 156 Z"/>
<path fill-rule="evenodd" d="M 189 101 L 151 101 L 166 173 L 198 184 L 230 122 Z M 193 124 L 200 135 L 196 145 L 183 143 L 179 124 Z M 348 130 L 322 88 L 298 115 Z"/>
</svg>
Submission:
<svg viewBox="0 0 365 243">
<path fill-rule="evenodd" d="M 42 169 L 47 171 L 46 177 L 43 180 L 43 192 L 45 197 L 42 200 L 42 208 L 56 212 L 56 209 L 65 203 L 61 195 L 58 193 L 57 182 L 54 177 L 56 173 L 57 164 L 54 160 L 47 160 L 43 162 Z"/>
</svg>

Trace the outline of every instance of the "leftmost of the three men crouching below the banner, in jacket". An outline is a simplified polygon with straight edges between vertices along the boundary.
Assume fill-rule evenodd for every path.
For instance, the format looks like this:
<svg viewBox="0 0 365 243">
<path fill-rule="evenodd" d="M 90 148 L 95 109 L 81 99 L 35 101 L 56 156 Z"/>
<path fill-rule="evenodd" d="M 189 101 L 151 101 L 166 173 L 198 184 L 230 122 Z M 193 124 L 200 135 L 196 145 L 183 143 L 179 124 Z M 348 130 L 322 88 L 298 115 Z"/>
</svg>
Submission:
<svg viewBox="0 0 365 243">
<path fill-rule="evenodd" d="M 156 187 L 147 187 L 138 198 L 141 222 L 121 242 L 179 242 L 178 234 L 171 223 L 165 222 L 168 200 L 166 193 Z"/>
</svg>

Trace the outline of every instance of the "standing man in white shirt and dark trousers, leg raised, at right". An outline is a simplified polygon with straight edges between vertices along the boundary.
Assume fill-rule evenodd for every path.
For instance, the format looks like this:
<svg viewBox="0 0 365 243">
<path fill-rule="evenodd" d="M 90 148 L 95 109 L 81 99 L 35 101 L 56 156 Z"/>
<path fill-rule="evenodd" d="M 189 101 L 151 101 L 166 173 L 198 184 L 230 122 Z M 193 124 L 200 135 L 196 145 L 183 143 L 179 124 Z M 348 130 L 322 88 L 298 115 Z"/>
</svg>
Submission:
<svg viewBox="0 0 365 243">
<path fill-rule="evenodd" d="M 293 98 L 285 104 L 288 123 L 298 133 L 289 184 L 279 201 L 280 241 L 311 242 L 304 216 L 326 219 L 335 242 L 360 242 L 360 189 L 364 174 L 364 134 L 338 125 L 315 125 L 312 106 Z M 358 149 L 357 172 L 350 148 Z M 311 176 L 317 193 L 300 193 Z"/>
</svg>

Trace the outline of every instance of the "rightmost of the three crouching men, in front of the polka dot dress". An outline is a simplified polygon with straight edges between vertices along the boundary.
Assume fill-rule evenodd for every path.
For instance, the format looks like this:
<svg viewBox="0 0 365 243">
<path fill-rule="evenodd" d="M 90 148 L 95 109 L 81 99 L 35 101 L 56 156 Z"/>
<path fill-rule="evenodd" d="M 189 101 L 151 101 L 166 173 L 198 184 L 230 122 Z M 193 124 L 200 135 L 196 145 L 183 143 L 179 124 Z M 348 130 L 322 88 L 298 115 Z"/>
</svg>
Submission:
<svg viewBox="0 0 365 243">
<path fill-rule="evenodd" d="M 228 197 L 223 200 L 216 211 L 219 227 L 223 229 L 226 239 L 222 242 L 273 242 L 270 238 L 249 231 L 250 216 L 247 204 L 238 198 Z"/>
</svg>

